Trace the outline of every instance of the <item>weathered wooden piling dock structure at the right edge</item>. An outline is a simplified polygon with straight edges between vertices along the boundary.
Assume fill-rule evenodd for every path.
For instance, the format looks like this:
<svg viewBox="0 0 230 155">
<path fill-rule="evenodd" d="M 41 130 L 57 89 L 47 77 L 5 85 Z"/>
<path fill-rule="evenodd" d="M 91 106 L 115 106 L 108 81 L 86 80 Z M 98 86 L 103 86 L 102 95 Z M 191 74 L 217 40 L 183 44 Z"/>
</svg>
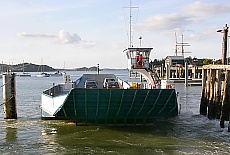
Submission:
<svg viewBox="0 0 230 155">
<path fill-rule="evenodd" d="M 230 65 L 203 66 L 200 114 L 209 119 L 220 119 L 221 128 L 224 128 L 224 121 L 229 121 Z"/>
</svg>

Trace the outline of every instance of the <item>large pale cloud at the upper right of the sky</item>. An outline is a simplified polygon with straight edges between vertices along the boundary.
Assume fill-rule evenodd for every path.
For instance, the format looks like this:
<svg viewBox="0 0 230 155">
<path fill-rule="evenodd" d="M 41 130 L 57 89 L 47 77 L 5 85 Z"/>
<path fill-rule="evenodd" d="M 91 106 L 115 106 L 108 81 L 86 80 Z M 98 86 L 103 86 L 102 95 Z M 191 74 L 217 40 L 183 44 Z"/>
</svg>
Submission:
<svg viewBox="0 0 230 155">
<path fill-rule="evenodd" d="M 194 29 L 194 26 L 205 26 L 207 24 L 206 22 L 212 19 L 213 16 L 225 15 L 223 16 L 224 18 L 227 14 L 229 15 L 230 5 L 195 1 L 182 6 L 181 11 L 182 12 L 180 13 L 157 14 L 150 16 L 143 20 L 140 27 L 144 31 L 163 34 L 175 31 L 183 33 L 190 30 L 195 32 L 196 29 Z"/>
</svg>

